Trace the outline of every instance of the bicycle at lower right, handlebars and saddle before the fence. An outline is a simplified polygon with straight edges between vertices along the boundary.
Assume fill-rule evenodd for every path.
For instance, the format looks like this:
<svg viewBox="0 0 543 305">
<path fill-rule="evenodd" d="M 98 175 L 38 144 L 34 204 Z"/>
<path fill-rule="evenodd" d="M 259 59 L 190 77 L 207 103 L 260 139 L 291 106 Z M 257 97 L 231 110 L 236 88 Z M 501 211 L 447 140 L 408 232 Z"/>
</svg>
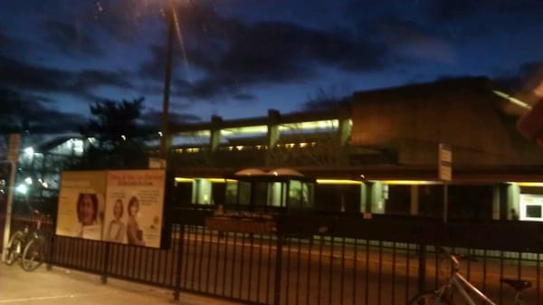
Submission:
<svg viewBox="0 0 543 305">
<path fill-rule="evenodd" d="M 437 288 L 435 291 L 424 291 L 414 296 L 409 300 L 408 305 L 449 305 L 452 304 L 453 292 L 458 292 L 462 297 L 462 303 L 469 305 L 480 304 L 473 300 L 469 292 L 479 297 L 482 300 L 482 304 L 496 305 L 489 297 L 479 291 L 472 283 L 466 280 L 462 274 L 460 274 L 460 262 L 458 258 L 452 253 L 447 252 L 443 248 L 438 248 L 438 251 L 448 256 L 452 262 L 451 276 L 445 281 L 445 283 Z M 500 282 L 510 285 L 515 291 L 515 305 L 524 305 L 524 302 L 520 296 L 520 292 L 531 287 L 530 281 L 513 280 L 501 278 Z"/>
</svg>

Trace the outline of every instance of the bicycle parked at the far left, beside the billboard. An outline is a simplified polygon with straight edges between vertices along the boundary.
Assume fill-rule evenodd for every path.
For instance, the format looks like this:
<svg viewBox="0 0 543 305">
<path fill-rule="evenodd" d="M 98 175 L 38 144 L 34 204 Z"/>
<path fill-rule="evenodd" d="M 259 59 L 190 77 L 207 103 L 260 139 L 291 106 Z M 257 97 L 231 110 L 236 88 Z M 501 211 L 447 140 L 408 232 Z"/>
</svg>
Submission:
<svg viewBox="0 0 543 305">
<path fill-rule="evenodd" d="M 37 220 L 35 227 L 25 224 L 23 230 L 17 230 L 12 234 L 4 261 L 7 265 L 20 262 L 21 267 L 27 272 L 32 272 L 42 265 L 46 253 L 45 237 L 41 231 L 44 215 L 37 210 L 33 210 L 33 213 Z"/>
</svg>

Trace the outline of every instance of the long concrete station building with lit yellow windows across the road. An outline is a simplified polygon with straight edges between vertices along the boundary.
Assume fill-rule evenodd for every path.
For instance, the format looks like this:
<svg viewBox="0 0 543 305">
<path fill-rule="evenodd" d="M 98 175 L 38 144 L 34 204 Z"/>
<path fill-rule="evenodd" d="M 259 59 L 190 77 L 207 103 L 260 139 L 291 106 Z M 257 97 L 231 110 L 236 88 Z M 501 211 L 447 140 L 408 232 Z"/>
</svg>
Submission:
<svg viewBox="0 0 543 305">
<path fill-rule="evenodd" d="M 446 201 L 451 220 L 543 221 L 543 150 L 516 129 L 523 111 L 485 78 L 358 91 L 330 110 L 172 126 L 168 168 L 176 205 L 229 204 L 244 192 L 233 173 L 287 167 L 315 179 L 319 211 L 442 217 Z M 440 144 L 451 181 L 439 176 Z M 277 183 L 262 205 L 284 205 L 271 199 Z"/>
</svg>

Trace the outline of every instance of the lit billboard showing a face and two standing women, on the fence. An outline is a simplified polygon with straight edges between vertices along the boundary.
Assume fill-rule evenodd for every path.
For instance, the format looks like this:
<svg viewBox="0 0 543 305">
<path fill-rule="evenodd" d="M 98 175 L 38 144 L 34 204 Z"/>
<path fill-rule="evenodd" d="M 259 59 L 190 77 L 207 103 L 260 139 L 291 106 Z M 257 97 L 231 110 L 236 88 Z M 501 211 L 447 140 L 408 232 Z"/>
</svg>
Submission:
<svg viewBox="0 0 543 305">
<path fill-rule="evenodd" d="M 62 173 L 56 234 L 160 247 L 164 169 Z"/>
</svg>

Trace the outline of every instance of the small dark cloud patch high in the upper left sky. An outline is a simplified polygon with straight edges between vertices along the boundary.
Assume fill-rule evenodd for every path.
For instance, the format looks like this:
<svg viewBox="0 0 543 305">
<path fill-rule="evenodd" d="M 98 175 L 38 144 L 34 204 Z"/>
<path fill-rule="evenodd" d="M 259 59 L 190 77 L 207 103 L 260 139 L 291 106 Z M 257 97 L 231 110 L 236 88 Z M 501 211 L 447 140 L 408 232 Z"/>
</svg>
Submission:
<svg viewBox="0 0 543 305">
<path fill-rule="evenodd" d="M 105 53 L 104 48 L 85 30 L 81 22 L 67 24 L 47 20 L 43 24 L 48 42 L 63 54 L 100 56 Z"/>
</svg>

